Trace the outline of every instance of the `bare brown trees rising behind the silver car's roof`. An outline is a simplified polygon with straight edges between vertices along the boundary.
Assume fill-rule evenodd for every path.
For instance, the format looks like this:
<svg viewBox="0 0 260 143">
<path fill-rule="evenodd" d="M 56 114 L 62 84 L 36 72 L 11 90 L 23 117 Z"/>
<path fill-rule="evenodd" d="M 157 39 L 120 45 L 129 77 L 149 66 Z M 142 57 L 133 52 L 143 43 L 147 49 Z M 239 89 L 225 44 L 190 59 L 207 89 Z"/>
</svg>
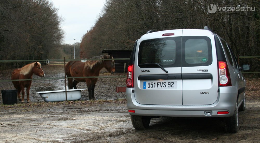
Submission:
<svg viewBox="0 0 260 143">
<path fill-rule="evenodd" d="M 217 10 L 210 12 L 211 6 Z M 103 49 L 132 49 L 148 30 L 211 27 L 236 56 L 259 56 L 260 2 L 252 0 L 107 0 L 103 13 L 80 44 L 81 56 Z M 259 68 L 258 59 L 242 62 Z"/>
</svg>

